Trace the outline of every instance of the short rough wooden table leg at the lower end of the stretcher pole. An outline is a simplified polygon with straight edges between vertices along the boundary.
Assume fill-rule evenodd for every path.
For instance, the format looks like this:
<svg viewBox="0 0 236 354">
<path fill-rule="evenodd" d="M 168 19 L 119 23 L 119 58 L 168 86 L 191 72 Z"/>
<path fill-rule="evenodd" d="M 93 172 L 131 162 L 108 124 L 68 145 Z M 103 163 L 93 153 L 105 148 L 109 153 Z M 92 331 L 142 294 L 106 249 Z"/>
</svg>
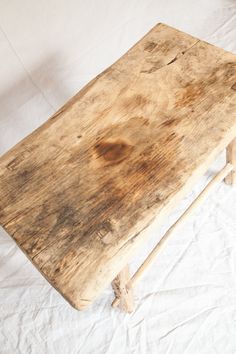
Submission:
<svg viewBox="0 0 236 354">
<path fill-rule="evenodd" d="M 112 288 L 114 290 L 116 298 L 120 299 L 119 306 L 125 312 L 132 312 L 134 310 L 134 296 L 133 289 L 128 289 L 126 284 L 130 280 L 129 266 L 125 266 L 122 271 L 112 282 Z M 116 299 L 115 299 L 116 300 Z M 112 306 L 116 306 L 115 300 Z"/>
</svg>

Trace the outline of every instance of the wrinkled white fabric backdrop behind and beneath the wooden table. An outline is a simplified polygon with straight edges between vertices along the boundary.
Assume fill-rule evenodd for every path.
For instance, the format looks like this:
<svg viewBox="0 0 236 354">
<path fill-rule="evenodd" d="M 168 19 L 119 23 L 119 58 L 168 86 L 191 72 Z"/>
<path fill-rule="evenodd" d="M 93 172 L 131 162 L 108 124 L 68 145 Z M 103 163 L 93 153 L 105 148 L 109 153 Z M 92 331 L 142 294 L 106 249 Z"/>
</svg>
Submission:
<svg viewBox="0 0 236 354">
<path fill-rule="evenodd" d="M 0 0 L 0 154 L 164 22 L 236 53 L 235 0 Z M 224 156 L 157 230 L 141 262 Z M 0 353 L 235 354 L 236 188 L 225 184 L 169 242 L 136 289 L 77 312 L 0 229 Z"/>
</svg>

